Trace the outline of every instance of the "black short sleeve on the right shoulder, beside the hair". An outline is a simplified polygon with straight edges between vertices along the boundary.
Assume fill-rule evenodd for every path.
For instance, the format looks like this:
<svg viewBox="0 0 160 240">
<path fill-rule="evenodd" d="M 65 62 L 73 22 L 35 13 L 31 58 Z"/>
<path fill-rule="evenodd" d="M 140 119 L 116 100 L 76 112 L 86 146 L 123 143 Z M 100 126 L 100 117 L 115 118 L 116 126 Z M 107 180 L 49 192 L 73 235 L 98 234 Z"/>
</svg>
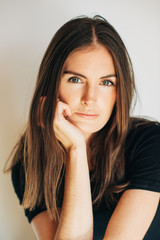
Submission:
<svg viewBox="0 0 160 240">
<path fill-rule="evenodd" d="M 146 124 L 127 138 L 127 189 L 160 192 L 160 124 Z"/>
</svg>

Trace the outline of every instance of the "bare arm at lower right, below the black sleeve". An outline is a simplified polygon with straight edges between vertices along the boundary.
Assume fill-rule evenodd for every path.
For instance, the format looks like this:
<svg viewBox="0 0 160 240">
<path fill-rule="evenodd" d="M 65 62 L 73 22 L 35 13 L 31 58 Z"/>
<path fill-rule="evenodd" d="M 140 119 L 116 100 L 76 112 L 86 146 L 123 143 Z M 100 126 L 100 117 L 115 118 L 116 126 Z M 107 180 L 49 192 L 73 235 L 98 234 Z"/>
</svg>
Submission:
<svg viewBox="0 0 160 240">
<path fill-rule="evenodd" d="M 160 194 L 126 190 L 109 221 L 104 240 L 142 240 L 156 213 Z"/>
</svg>

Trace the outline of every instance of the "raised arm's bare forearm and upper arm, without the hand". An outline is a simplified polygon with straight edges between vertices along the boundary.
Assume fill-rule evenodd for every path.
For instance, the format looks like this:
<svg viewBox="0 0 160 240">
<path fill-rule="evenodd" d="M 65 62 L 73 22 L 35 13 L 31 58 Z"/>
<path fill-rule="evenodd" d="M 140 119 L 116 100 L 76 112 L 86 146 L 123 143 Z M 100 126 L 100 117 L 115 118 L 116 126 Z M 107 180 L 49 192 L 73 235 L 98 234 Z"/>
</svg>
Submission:
<svg viewBox="0 0 160 240">
<path fill-rule="evenodd" d="M 72 156 L 66 169 L 64 200 L 59 224 L 50 220 L 47 211 L 38 214 L 31 222 L 39 240 L 93 239 L 92 202 L 87 161 L 83 161 L 84 166 L 79 164 L 76 150 L 70 151 L 70 155 Z M 80 161 L 81 157 L 85 159 L 82 153 L 78 154 Z"/>
</svg>

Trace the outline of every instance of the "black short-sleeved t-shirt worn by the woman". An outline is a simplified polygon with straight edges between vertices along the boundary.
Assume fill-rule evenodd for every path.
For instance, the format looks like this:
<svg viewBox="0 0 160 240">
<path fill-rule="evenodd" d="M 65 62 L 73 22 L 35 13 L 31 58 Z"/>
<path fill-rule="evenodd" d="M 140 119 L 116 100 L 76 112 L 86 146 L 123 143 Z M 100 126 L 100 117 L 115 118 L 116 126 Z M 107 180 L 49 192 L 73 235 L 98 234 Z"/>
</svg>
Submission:
<svg viewBox="0 0 160 240">
<path fill-rule="evenodd" d="M 90 173 L 90 176 L 92 173 Z M 160 192 L 160 124 L 141 122 L 129 131 L 125 141 L 125 179 L 130 181 L 126 189 L 144 189 Z M 24 194 L 24 170 L 21 162 L 12 169 L 12 182 L 15 192 L 22 203 Z M 120 195 L 119 195 L 120 198 Z M 109 209 L 102 199 L 98 209 L 93 208 L 94 240 L 102 240 L 108 222 L 115 208 Z M 28 221 L 46 210 L 37 207 L 33 211 L 25 209 Z M 135 233 L 136 234 L 136 233 Z M 160 239 L 160 204 L 144 240 Z"/>
</svg>

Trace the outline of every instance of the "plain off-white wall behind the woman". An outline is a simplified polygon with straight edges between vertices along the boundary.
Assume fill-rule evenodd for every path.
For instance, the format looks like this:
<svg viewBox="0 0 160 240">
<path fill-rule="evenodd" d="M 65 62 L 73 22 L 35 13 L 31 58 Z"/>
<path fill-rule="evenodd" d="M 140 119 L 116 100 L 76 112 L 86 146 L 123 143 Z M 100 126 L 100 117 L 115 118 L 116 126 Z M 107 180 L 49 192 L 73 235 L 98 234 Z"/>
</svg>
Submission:
<svg viewBox="0 0 160 240">
<path fill-rule="evenodd" d="M 55 31 L 79 15 L 105 17 L 131 56 L 140 101 L 160 121 L 160 0 L 0 0 L 0 239 L 34 240 L 4 163 L 25 126 L 42 56 Z"/>
</svg>

